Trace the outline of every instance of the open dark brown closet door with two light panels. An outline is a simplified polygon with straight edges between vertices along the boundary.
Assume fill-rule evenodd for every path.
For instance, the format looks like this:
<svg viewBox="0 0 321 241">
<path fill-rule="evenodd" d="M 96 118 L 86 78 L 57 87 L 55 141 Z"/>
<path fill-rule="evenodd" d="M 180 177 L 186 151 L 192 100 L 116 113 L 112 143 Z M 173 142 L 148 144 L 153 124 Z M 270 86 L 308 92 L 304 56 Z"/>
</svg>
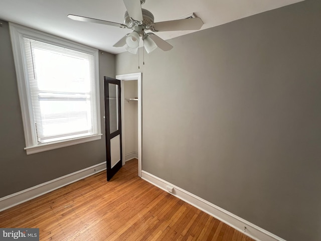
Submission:
<svg viewBox="0 0 321 241">
<path fill-rule="evenodd" d="M 104 77 L 107 181 L 122 166 L 120 80 Z"/>
</svg>

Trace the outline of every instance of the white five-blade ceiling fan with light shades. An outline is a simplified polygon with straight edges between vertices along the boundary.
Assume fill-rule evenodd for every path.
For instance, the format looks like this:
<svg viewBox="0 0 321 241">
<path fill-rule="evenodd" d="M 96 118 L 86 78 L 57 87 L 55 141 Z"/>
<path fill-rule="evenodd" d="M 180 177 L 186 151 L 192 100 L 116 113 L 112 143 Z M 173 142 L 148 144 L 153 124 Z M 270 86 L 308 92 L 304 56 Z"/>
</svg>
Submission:
<svg viewBox="0 0 321 241">
<path fill-rule="evenodd" d="M 144 48 L 147 53 L 150 53 L 157 47 L 164 51 L 168 51 L 173 48 L 173 46 L 168 42 L 166 42 L 162 38 L 159 38 L 157 35 L 151 32 L 199 30 L 203 25 L 203 22 L 200 18 L 154 23 L 154 16 L 152 15 L 152 13 L 141 8 L 141 5 L 145 3 L 145 0 L 123 0 L 123 2 L 127 9 L 124 16 L 124 24 L 71 14 L 68 15 L 68 18 L 82 22 L 105 24 L 122 29 L 132 29 L 133 32 L 125 35 L 113 45 L 113 47 L 123 47 L 124 45 L 126 45 L 126 50 L 132 54 L 137 53 L 140 37 L 143 40 Z"/>
</svg>

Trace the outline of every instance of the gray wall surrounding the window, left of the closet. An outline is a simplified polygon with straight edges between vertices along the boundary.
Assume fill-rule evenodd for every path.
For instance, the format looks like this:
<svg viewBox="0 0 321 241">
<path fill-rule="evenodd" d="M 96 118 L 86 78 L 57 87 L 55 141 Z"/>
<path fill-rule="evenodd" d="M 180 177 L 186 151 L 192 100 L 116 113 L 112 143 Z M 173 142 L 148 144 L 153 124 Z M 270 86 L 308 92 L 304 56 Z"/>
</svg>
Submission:
<svg viewBox="0 0 321 241">
<path fill-rule="evenodd" d="M 16 71 L 9 27 L 0 28 L 0 197 L 36 186 L 106 161 L 105 135 L 101 140 L 26 155 Z M 100 108 L 104 126 L 103 76 L 115 76 L 115 56 L 99 54 Z"/>
</svg>

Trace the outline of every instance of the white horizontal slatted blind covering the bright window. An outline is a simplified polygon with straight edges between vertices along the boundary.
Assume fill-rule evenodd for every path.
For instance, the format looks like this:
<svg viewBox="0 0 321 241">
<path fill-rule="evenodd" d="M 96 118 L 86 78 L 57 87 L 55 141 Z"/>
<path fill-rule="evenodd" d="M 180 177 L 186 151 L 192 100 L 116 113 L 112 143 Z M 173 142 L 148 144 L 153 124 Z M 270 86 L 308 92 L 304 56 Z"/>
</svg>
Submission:
<svg viewBox="0 0 321 241">
<path fill-rule="evenodd" d="M 97 134 L 94 56 L 24 43 L 37 143 Z"/>
</svg>

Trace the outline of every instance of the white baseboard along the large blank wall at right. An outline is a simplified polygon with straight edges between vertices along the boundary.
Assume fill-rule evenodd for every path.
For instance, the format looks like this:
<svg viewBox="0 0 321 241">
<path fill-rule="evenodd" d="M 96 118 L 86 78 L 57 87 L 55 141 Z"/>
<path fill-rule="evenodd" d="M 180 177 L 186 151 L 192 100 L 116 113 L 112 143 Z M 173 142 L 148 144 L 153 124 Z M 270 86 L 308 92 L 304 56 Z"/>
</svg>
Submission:
<svg viewBox="0 0 321 241">
<path fill-rule="evenodd" d="M 221 220 L 222 222 L 228 224 L 229 226 L 237 229 L 240 232 L 243 232 L 247 236 L 258 240 L 258 241 L 285 241 L 284 239 L 264 230 L 261 227 L 256 226 L 255 224 L 246 221 L 245 219 L 230 213 L 229 211 L 220 208 L 213 203 L 210 203 L 180 187 L 173 185 L 161 178 L 158 178 L 148 172 L 141 171 L 141 178 L 145 181 L 167 191 L 166 187 L 170 186 L 174 188 L 174 196 L 182 199 L 183 201 L 201 209 L 202 211 L 210 214 L 211 216 Z M 168 191 L 167 191 L 168 192 Z M 246 231 L 244 232 L 244 226 Z"/>
</svg>

